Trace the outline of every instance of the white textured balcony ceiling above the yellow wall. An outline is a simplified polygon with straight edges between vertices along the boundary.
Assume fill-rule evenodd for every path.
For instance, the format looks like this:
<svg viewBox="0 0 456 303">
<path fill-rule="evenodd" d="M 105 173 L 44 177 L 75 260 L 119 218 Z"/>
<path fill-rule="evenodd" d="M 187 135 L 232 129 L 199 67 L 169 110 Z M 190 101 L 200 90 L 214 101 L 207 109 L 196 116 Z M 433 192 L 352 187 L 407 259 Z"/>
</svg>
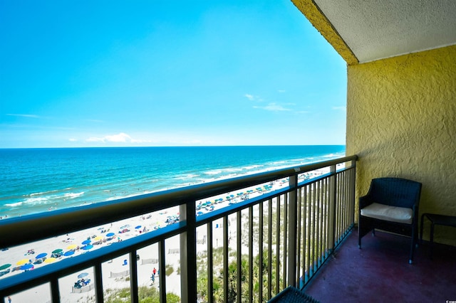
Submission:
<svg viewBox="0 0 456 303">
<path fill-rule="evenodd" d="M 314 0 L 360 63 L 456 44 L 456 0 Z"/>
</svg>

